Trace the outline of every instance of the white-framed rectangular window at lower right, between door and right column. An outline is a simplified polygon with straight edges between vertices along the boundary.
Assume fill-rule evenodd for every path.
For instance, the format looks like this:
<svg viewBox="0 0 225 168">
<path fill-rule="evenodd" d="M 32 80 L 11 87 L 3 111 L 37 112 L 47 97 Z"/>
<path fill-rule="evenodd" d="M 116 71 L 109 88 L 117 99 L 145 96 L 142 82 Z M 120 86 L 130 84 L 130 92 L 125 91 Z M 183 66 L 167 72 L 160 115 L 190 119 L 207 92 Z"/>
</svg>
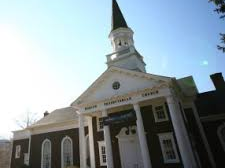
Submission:
<svg viewBox="0 0 225 168">
<path fill-rule="evenodd" d="M 158 134 L 160 146 L 163 154 L 164 163 L 178 163 L 179 157 L 177 154 L 176 145 L 173 138 L 173 133 Z"/>
</svg>

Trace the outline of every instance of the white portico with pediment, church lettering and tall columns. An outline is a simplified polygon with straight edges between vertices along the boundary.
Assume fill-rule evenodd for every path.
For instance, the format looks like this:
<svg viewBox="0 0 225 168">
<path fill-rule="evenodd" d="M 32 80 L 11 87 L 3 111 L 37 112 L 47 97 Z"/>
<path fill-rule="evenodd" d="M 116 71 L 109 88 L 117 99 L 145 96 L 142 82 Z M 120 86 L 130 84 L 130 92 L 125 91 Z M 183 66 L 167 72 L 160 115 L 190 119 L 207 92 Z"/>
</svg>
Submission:
<svg viewBox="0 0 225 168">
<path fill-rule="evenodd" d="M 125 72 L 124 72 L 125 71 Z M 117 67 L 112 67 L 108 69 L 105 73 L 103 73 L 102 76 L 100 76 L 99 79 L 97 79 L 97 82 L 90 87 L 84 95 L 80 97 L 80 99 L 77 99 L 77 102 L 74 102 L 72 106 L 74 108 L 79 110 L 80 115 L 80 150 L 81 150 L 81 164 L 83 164 L 83 167 L 87 167 L 87 163 L 85 160 L 85 145 L 82 143 L 84 140 L 84 124 L 82 122 L 84 121 L 84 118 L 88 118 L 88 130 L 89 130 L 89 140 L 90 140 L 90 167 L 96 167 L 96 158 L 98 156 L 96 155 L 95 149 L 96 146 L 94 146 L 96 143 L 94 142 L 95 139 L 93 137 L 94 130 L 93 127 L 93 118 L 101 118 L 101 117 L 110 117 L 112 115 L 119 115 L 124 110 L 133 110 L 136 115 L 136 122 L 129 125 L 129 126 L 135 126 L 135 129 L 137 131 L 137 142 L 140 146 L 140 154 L 141 154 L 141 165 L 143 168 L 152 168 L 152 161 L 151 161 L 151 155 L 150 151 L 151 142 L 149 142 L 149 139 L 151 139 L 151 133 L 146 132 L 144 121 L 143 121 L 143 113 L 141 111 L 142 107 L 145 106 L 154 106 L 154 104 L 158 104 L 157 102 L 161 102 L 161 104 L 167 104 L 168 110 L 169 110 L 169 116 L 171 119 L 171 123 L 173 125 L 173 130 L 175 134 L 175 139 L 178 145 L 178 151 L 180 151 L 181 158 L 183 163 L 185 163 L 187 168 L 195 167 L 195 158 L 193 156 L 192 147 L 188 138 L 187 130 L 184 125 L 184 121 L 181 115 L 181 110 L 178 107 L 178 99 L 175 99 L 175 91 L 170 88 L 171 86 L 171 79 L 167 77 L 159 77 L 159 76 L 151 76 L 150 74 L 144 74 L 141 72 L 132 72 L 129 70 L 123 70 Z M 127 81 L 129 81 L 130 75 L 135 76 L 136 78 L 139 78 L 139 82 L 142 84 L 144 83 L 145 79 L 148 84 L 144 85 L 143 88 L 133 88 L 132 91 L 125 92 L 123 90 L 120 90 L 120 93 L 124 94 L 118 94 L 116 93 L 117 90 L 111 89 L 112 92 L 109 92 L 108 90 L 102 90 L 105 88 L 110 81 L 111 77 L 113 78 L 113 74 L 116 73 L 117 75 L 117 82 L 120 82 L 120 89 L 122 89 L 123 85 L 126 84 Z M 120 74 L 120 75 L 118 75 Z M 126 79 L 123 77 L 123 81 L 118 80 L 120 76 L 126 76 Z M 101 80 L 100 80 L 101 79 Z M 140 81 L 142 79 L 142 81 Z M 100 85 L 101 84 L 101 85 Z M 113 85 L 110 84 L 110 86 Z M 98 86 L 98 87 L 97 87 Z M 140 87 L 140 85 L 134 84 L 133 87 Z M 150 86 L 150 87 L 145 87 Z M 130 84 L 130 87 L 132 88 L 132 84 Z M 116 93 L 116 94 L 115 94 Z M 95 98 L 92 99 L 93 95 L 95 95 Z M 101 94 L 101 95 L 99 95 Z M 105 94 L 105 95 L 104 95 Z M 96 97 L 101 97 L 99 100 L 96 99 Z M 105 97 L 105 99 L 103 98 Z M 82 101 L 83 100 L 83 101 Z M 84 102 L 84 103 L 82 103 Z M 152 113 L 152 111 L 149 111 L 149 113 Z M 182 124 L 183 123 L 183 124 Z M 97 122 L 95 122 L 97 124 Z M 126 124 L 125 124 L 126 125 Z M 113 149 L 113 146 L 115 146 L 112 143 L 115 143 L 113 139 L 115 139 L 115 135 L 111 135 L 111 132 L 113 131 L 114 125 L 104 125 L 103 128 L 103 141 L 105 143 L 105 154 L 107 158 L 107 167 L 114 168 L 115 167 L 115 158 L 114 156 L 116 154 L 113 153 L 115 151 Z M 124 128 L 124 127 L 123 127 Z M 121 128 L 122 130 L 122 128 Z M 118 132 L 117 132 L 118 133 Z M 119 134 L 119 133 L 118 133 Z M 117 134 L 117 135 L 118 135 Z M 147 135 L 148 134 L 148 135 Z M 113 136 L 113 137 L 112 137 Z M 147 138 L 148 137 L 148 138 Z M 185 137 L 185 138 L 184 138 Z M 118 148 L 120 147 L 119 142 L 116 142 Z M 120 149 L 119 149 L 120 150 Z M 124 150 L 124 149 L 123 149 Z M 182 151 L 182 152 L 181 152 Z M 121 152 L 119 153 L 121 155 Z M 123 160 L 121 159 L 122 156 L 120 156 L 120 164 L 122 165 Z"/>
</svg>

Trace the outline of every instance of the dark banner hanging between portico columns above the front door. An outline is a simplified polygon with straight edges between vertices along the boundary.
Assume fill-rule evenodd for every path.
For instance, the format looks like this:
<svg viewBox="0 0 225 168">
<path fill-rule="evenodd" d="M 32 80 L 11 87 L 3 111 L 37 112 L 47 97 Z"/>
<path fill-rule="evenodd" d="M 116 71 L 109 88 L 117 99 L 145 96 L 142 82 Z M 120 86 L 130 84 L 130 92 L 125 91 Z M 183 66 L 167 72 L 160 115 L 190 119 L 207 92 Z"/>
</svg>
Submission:
<svg viewBox="0 0 225 168">
<path fill-rule="evenodd" d="M 126 114 L 122 114 L 119 116 L 103 117 L 103 124 L 104 125 L 120 124 L 120 123 L 136 121 L 136 119 L 137 118 L 136 118 L 135 112 L 130 111 Z"/>
</svg>

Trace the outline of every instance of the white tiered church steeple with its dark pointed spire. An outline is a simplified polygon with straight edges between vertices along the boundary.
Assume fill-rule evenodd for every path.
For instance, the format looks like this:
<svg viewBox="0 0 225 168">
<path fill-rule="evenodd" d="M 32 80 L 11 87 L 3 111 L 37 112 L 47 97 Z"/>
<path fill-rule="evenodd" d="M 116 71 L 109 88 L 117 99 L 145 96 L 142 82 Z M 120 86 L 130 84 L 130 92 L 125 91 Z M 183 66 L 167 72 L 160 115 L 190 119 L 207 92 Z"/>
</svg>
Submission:
<svg viewBox="0 0 225 168">
<path fill-rule="evenodd" d="M 113 53 L 107 55 L 107 65 L 119 68 L 145 71 L 143 57 L 134 47 L 134 32 L 128 27 L 126 20 L 117 4 L 112 1 L 112 30 L 109 39 L 113 48 Z"/>
</svg>

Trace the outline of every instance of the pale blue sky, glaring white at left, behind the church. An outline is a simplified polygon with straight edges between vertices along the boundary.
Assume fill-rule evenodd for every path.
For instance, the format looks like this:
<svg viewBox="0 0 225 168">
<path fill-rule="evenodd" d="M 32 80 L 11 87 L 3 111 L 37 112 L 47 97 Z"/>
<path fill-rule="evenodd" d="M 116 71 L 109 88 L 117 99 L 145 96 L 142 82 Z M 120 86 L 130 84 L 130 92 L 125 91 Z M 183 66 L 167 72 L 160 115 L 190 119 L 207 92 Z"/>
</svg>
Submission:
<svg viewBox="0 0 225 168">
<path fill-rule="evenodd" d="M 208 0 L 118 0 L 148 73 L 194 77 L 199 92 L 225 76 L 216 49 L 225 21 Z M 111 0 L 0 0 L 0 138 L 70 105 L 106 69 Z"/>
</svg>

